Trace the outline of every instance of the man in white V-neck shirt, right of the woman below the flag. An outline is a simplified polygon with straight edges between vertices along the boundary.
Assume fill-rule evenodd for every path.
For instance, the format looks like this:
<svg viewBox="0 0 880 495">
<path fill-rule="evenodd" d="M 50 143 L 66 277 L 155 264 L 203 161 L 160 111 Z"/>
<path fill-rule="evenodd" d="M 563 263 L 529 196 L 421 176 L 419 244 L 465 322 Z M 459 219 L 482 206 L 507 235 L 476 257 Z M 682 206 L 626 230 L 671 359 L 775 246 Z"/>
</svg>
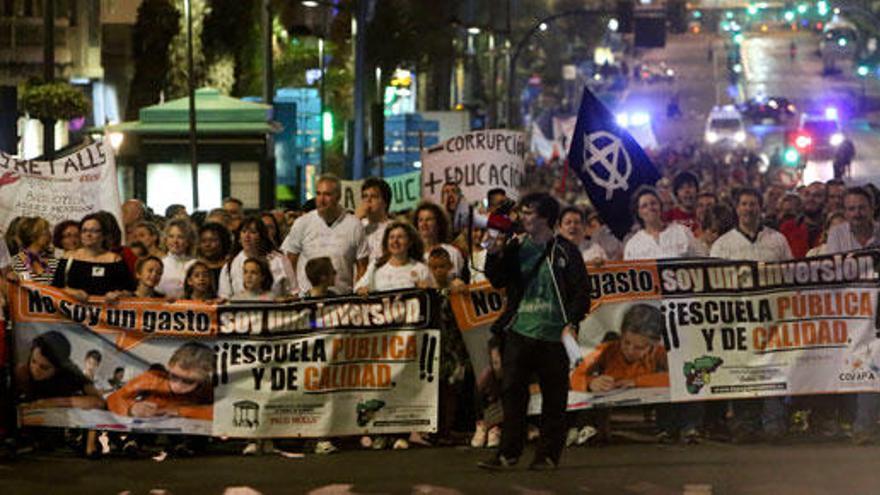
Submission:
<svg viewBox="0 0 880 495">
<path fill-rule="evenodd" d="M 785 236 L 764 227 L 761 218 L 763 198 L 752 188 L 734 193 L 737 226 L 712 244 L 711 256 L 729 260 L 785 261 L 791 248 Z M 737 442 L 778 438 L 787 430 L 785 405 L 781 397 L 733 401 L 735 415 L 732 433 Z"/>
</svg>

